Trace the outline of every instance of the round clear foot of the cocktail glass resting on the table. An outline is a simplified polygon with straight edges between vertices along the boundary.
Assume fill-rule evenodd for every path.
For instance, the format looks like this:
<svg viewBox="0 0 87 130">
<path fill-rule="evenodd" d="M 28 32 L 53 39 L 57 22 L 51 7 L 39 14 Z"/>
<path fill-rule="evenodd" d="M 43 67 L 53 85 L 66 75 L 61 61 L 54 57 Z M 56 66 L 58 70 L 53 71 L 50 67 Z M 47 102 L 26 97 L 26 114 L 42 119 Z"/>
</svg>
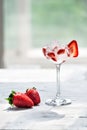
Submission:
<svg viewBox="0 0 87 130">
<path fill-rule="evenodd" d="M 62 98 L 57 98 L 57 99 L 48 99 L 45 104 L 49 106 L 62 106 L 62 105 L 68 105 L 71 104 L 70 99 L 62 99 Z"/>
</svg>

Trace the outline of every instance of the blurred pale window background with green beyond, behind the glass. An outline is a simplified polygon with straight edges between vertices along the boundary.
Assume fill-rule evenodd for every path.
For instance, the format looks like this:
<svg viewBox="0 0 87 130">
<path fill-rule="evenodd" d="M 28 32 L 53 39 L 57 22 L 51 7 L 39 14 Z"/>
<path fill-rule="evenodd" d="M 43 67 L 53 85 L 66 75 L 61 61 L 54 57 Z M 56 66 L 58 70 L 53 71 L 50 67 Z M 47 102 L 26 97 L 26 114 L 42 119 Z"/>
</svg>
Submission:
<svg viewBox="0 0 87 130">
<path fill-rule="evenodd" d="M 76 39 L 87 64 L 87 0 L 0 0 L 0 68 L 53 67 L 41 48 Z"/>
</svg>

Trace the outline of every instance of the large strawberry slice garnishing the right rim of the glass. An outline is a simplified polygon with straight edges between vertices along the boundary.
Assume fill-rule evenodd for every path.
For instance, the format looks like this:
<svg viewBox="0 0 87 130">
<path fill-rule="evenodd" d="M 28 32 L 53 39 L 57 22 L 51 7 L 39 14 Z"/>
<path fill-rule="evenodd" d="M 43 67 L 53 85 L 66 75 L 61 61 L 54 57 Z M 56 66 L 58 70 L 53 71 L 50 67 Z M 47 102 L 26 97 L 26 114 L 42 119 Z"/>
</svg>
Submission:
<svg viewBox="0 0 87 130">
<path fill-rule="evenodd" d="M 76 40 L 71 41 L 68 45 L 68 50 L 70 55 L 72 57 L 77 57 L 78 56 L 78 44 Z"/>
</svg>

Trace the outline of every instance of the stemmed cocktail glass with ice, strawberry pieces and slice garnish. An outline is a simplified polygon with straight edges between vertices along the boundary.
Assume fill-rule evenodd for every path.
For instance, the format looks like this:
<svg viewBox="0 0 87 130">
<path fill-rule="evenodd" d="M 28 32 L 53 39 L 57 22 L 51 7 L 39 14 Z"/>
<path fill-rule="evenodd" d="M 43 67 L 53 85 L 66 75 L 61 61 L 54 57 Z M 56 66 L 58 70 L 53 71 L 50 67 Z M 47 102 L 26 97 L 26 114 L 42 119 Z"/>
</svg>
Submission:
<svg viewBox="0 0 87 130">
<path fill-rule="evenodd" d="M 64 99 L 60 95 L 60 67 L 69 58 L 78 56 L 78 44 L 76 40 L 72 40 L 67 45 L 58 44 L 57 42 L 46 45 L 42 48 L 44 56 L 56 65 L 57 72 L 57 93 L 53 99 L 46 101 L 47 105 L 59 106 L 71 104 L 70 99 Z"/>
</svg>

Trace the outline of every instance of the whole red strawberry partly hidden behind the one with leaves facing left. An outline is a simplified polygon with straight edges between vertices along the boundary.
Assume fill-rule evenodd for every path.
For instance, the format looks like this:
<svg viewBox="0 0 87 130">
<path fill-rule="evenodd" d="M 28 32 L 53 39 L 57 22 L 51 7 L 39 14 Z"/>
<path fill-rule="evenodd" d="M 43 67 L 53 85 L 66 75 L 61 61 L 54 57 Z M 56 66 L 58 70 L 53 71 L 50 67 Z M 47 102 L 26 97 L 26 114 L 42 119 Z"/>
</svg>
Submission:
<svg viewBox="0 0 87 130">
<path fill-rule="evenodd" d="M 40 95 L 35 87 L 26 90 L 26 95 L 32 99 L 34 105 L 38 105 L 41 102 Z"/>
</svg>

